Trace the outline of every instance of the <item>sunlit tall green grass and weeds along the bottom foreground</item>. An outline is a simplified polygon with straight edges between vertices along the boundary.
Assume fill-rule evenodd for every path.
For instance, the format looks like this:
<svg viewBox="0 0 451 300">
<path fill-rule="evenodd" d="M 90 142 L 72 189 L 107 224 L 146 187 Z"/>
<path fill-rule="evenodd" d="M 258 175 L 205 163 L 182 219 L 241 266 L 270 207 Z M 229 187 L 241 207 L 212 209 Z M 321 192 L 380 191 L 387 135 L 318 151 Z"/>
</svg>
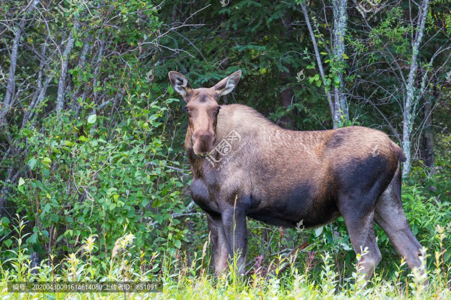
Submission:
<svg viewBox="0 0 451 300">
<path fill-rule="evenodd" d="M 17 219 L 16 227 L 16 257 L 0 264 L 2 299 L 451 299 L 449 270 L 443 263 L 443 253 L 434 253 L 428 259 L 434 259 L 434 269 L 424 271 L 422 267 L 409 271 L 406 281 L 402 281 L 401 273 L 405 262 L 401 261 L 396 272 L 396 279 L 387 281 L 379 275 L 372 277 L 366 288 L 363 279 L 363 265 L 359 263 L 362 254 L 357 255 L 354 272 L 351 277 L 344 278 L 338 284 L 338 273 L 335 270 L 334 259 L 329 253 L 321 255 L 322 266 L 317 276 L 311 276 L 311 259 L 307 261 L 303 272 L 296 268 L 294 261 L 297 253 L 291 257 L 279 257 L 274 265 L 289 263 L 285 272 L 277 277 L 264 275 L 261 265 L 256 263 L 255 271 L 249 276 L 236 276 L 235 259 L 228 262 L 227 271 L 215 279 L 209 272 L 210 257 L 206 255 L 209 238 L 205 241 L 201 254 L 194 253 L 194 259 L 189 263 L 186 255 L 178 252 L 174 255 L 153 253 L 145 259 L 143 253 L 139 257 L 131 254 L 134 235 L 125 232 L 119 238 L 110 257 L 100 260 L 94 254 L 95 239 L 91 235 L 84 240 L 83 245 L 75 253 L 71 253 L 61 263 L 54 264 L 47 259 L 41 265 L 30 268 L 30 257 L 27 249 L 21 247 L 24 221 Z M 437 238 L 442 244 L 445 234 L 443 227 L 436 227 Z M 426 255 L 427 257 L 427 255 Z M 205 263 L 204 263 L 205 262 Z M 158 270 L 158 271 L 156 271 Z M 8 281 L 158 281 L 159 293 L 8 293 Z M 426 281 L 428 284 L 426 284 Z"/>
</svg>

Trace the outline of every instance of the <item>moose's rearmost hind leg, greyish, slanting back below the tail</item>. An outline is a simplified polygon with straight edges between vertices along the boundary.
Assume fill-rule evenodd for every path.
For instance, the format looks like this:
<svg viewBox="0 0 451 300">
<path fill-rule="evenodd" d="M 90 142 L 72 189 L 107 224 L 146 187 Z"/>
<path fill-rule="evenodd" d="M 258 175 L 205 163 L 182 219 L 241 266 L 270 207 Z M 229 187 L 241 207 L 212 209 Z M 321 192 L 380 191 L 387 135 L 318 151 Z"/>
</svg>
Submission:
<svg viewBox="0 0 451 300">
<path fill-rule="evenodd" d="M 396 177 L 396 175 L 395 175 Z M 376 202 L 374 221 L 387 233 L 388 239 L 410 269 L 420 267 L 421 244 L 413 235 L 402 209 L 400 184 L 394 178 Z"/>
</svg>

